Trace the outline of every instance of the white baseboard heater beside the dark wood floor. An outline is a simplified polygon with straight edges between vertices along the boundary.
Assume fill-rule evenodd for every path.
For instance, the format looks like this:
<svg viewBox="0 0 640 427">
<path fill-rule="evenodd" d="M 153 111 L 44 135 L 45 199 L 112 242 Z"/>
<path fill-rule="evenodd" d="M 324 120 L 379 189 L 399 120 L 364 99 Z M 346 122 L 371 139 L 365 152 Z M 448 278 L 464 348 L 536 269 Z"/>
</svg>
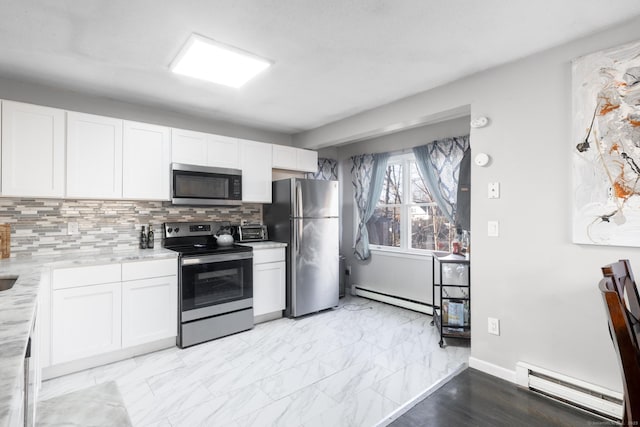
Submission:
<svg viewBox="0 0 640 427">
<path fill-rule="evenodd" d="M 622 420 L 622 394 L 530 365 L 516 364 L 516 382 L 552 399 L 610 420 Z"/>
</svg>

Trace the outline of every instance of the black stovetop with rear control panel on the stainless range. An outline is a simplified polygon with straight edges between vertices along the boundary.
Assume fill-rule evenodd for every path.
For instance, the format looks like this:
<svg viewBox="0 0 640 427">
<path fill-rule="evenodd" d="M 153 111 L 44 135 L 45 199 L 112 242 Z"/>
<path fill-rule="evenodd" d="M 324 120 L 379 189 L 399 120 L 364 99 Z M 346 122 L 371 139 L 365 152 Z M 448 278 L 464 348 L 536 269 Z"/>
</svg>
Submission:
<svg viewBox="0 0 640 427">
<path fill-rule="evenodd" d="M 167 222 L 164 224 L 164 247 L 182 255 L 224 254 L 251 252 L 248 246 L 216 243 L 215 235 L 227 231 L 228 222 Z"/>
</svg>

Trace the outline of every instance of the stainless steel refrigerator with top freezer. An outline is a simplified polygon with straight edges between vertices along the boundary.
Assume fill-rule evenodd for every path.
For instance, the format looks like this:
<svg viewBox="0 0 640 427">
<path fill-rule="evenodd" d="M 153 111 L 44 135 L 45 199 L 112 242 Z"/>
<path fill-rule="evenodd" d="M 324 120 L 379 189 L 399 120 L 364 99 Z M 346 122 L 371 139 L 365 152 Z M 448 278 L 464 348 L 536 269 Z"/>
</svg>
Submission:
<svg viewBox="0 0 640 427">
<path fill-rule="evenodd" d="M 271 240 L 287 243 L 288 317 L 338 305 L 339 221 L 338 181 L 273 182 L 264 222 Z"/>
</svg>

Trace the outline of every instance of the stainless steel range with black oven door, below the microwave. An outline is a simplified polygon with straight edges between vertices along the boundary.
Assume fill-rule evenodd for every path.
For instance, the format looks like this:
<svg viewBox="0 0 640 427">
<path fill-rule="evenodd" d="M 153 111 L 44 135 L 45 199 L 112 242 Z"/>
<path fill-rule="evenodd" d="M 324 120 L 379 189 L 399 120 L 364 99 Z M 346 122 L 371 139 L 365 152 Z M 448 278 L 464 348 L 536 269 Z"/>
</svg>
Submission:
<svg viewBox="0 0 640 427">
<path fill-rule="evenodd" d="M 178 340 L 192 346 L 253 327 L 253 250 L 216 243 L 228 223 L 164 224 L 167 249 L 179 252 Z"/>
</svg>

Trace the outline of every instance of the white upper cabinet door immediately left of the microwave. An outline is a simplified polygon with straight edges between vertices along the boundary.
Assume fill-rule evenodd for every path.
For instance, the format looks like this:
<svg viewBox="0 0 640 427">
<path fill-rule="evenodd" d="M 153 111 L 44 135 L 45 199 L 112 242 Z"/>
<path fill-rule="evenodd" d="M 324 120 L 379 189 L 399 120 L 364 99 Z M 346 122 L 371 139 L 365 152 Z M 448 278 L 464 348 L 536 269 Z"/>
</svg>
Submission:
<svg viewBox="0 0 640 427">
<path fill-rule="evenodd" d="M 169 128 L 125 121 L 122 145 L 122 196 L 127 199 L 169 200 Z"/>
</svg>

